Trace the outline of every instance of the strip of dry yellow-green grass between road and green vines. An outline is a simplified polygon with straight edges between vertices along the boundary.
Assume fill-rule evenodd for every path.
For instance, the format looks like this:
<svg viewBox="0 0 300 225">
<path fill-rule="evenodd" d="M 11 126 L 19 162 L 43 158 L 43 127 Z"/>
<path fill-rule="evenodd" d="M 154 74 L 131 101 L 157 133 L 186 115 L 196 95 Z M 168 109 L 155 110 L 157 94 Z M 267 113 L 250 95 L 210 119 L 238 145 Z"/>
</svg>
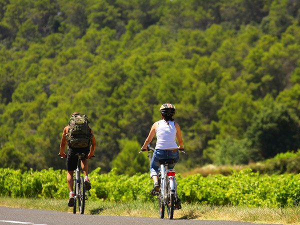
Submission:
<svg viewBox="0 0 300 225">
<path fill-rule="evenodd" d="M 1 197 L 0 206 L 39 208 L 72 212 L 66 200 L 28 199 Z M 158 206 L 153 202 L 87 201 L 85 214 L 158 217 Z M 235 220 L 253 223 L 300 224 L 300 207 L 266 208 L 246 206 L 211 206 L 182 203 L 182 209 L 174 211 L 174 219 Z"/>
</svg>

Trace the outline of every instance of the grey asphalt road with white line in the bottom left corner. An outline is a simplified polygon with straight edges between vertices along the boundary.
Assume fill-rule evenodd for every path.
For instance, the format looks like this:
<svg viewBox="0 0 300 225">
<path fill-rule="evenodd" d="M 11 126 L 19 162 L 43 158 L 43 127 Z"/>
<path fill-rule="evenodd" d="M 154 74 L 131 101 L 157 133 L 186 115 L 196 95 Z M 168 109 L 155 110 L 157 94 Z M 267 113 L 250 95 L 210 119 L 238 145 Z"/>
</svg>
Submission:
<svg viewBox="0 0 300 225">
<path fill-rule="evenodd" d="M 0 207 L 0 224 L 34 224 L 34 225 L 57 225 L 57 224 L 199 224 L 199 225 L 251 225 L 258 223 L 220 221 L 220 220 L 198 220 L 198 219 L 160 219 L 148 217 L 131 216 L 108 216 L 108 215 L 90 215 L 73 214 L 68 212 L 58 212 L 41 209 L 10 208 Z M 264 224 L 266 225 L 266 224 Z"/>
</svg>

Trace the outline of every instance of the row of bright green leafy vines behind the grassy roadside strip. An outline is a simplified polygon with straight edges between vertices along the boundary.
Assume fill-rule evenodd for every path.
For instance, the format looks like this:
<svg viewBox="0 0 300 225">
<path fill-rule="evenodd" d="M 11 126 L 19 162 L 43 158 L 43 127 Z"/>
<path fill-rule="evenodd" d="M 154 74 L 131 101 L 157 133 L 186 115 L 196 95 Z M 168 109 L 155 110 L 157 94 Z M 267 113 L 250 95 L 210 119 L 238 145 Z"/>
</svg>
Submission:
<svg viewBox="0 0 300 225">
<path fill-rule="evenodd" d="M 133 176 L 90 172 L 92 188 L 90 199 L 105 201 L 153 201 L 149 194 L 152 180 L 148 173 Z M 23 174 L 19 170 L 0 168 L 4 182 L 0 194 L 12 197 L 65 198 L 68 194 L 65 170 L 49 168 L 40 172 L 30 169 Z M 300 174 L 267 175 L 251 169 L 232 171 L 231 175 L 177 174 L 178 195 L 181 201 L 201 202 L 211 205 L 246 206 L 295 206 L 300 199 Z"/>
</svg>

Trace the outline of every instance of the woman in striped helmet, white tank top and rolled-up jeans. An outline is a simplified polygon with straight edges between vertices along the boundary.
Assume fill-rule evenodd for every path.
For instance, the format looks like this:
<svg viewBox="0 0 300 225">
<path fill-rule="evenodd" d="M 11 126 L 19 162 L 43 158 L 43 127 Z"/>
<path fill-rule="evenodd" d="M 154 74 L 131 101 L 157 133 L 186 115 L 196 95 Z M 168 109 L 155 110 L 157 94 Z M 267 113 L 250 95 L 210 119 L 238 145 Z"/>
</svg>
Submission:
<svg viewBox="0 0 300 225">
<path fill-rule="evenodd" d="M 159 111 L 162 119 L 153 123 L 144 144 L 141 146 L 141 150 L 144 151 L 156 133 L 156 146 L 150 163 L 150 177 L 154 182 L 150 192 L 151 195 L 155 195 L 159 191 L 158 168 L 160 168 L 160 164 L 158 160 L 174 159 L 175 162 L 168 165 L 168 169 L 173 169 L 179 159 L 178 149 L 181 150 L 184 148 L 180 126 L 173 121 L 173 115 L 176 112 L 175 106 L 170 103 L 165 103 L 160 106 Z M 177 138 L 179 146 L 176 144 L 175 137 Z"/>
</svg>

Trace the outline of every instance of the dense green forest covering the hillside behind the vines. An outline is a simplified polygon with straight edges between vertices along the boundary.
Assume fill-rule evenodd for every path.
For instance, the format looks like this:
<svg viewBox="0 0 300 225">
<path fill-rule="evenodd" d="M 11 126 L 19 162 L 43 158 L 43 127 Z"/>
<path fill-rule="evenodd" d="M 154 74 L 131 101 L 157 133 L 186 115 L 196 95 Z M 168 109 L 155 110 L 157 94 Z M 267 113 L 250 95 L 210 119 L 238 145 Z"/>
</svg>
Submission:
<svg viewBox="0 0 300 225">
<path fill-rule="evenodd" d="M 65 168 L 79 111 L 90 169 L 145 172 L 165 102 L 187 169 L 297 150 L 299 23 L 298 0 L 0 0 L 0 167 Z"/>
</svg>

